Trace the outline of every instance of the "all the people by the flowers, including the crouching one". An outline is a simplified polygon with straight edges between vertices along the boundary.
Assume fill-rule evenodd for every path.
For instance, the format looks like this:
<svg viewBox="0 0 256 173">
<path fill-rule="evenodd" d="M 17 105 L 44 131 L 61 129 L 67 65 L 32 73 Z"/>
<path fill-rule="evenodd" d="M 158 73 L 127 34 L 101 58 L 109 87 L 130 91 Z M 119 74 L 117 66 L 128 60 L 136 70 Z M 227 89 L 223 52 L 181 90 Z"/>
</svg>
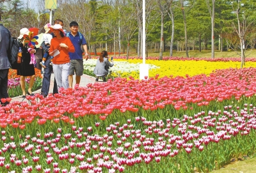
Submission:
<svg viewBox="0 0 256 173">
<path fill-rule="evenodd" d="M 31 63 L 31 54 L 40 52 L 42 54 L 42 62 L 40 65 L 44 68 L 44 78 L 42 80 L 41 94 L 45 97 L 49 93 L 49 86 L 51 80 L 51 73 L 54 73 L 54 88 L 53 94 L 58 93 L 60 87 L 65 89 L 72 88 L 73 75 L 76 72 L 76 84 L 80 83 L 83 75 L 83 50 L 88 59 L 88 47 L 86 40 L 78 30 L 77 22 L 70 22 L 70 32 L 65 32 L 63 29 L 63 20 L 57 19 L 54 25 L 45 24 L 45 33 L 40 47 L 29 49 L 28 43 L 24 41 L 24 34 L 29 34 L 28 28 L 20 29 L 20 35 L 17 38 L 19 47 L 22 50 L 22 62 L 20 68 L 17 70 L 17 75 L 20 75 L 20 86 L 22 89 L 22 98 L 26 98 L 26 94 L 33 95 L 32 87 L 35 81 L 35 66 Z M 8 45 L 10 43 L 10 31 L 1 24 L 0 21 L 0 98 L 8 98 L 8 71 L 11 67 L 8 61 Z M 113 60 L 109 62 L 108 52 L 102 51 L 95 70 L 93 71 L 97 76 L 103 77 L 106 81 L 108 75 L 108 66 L 113 66 Z M 25 87 L 25 77 L 30 77 L 28 91 Z M 2 102 L 1 102 L 2 104 Z"/>
</svg>

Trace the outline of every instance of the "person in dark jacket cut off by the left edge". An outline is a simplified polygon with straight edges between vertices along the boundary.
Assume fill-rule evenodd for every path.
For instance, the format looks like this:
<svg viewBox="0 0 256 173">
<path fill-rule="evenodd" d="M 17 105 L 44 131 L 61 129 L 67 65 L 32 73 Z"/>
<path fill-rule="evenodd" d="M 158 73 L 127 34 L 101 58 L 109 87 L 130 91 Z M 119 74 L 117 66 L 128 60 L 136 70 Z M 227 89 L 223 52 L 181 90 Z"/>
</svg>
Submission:
<svg viewBox="0 0 256 173">
<path fill-rule="evenodd" d="M 8 60 L 7 51 L 10 47 L 10 31 L 1 24 L 0 16 L 0 99 L 8 98 L 7 86 L 8 86 L 8 72 L 11 64 Z M 2 102 L 1 105 L 6 105 L 9 102 Z"/>
</svg>

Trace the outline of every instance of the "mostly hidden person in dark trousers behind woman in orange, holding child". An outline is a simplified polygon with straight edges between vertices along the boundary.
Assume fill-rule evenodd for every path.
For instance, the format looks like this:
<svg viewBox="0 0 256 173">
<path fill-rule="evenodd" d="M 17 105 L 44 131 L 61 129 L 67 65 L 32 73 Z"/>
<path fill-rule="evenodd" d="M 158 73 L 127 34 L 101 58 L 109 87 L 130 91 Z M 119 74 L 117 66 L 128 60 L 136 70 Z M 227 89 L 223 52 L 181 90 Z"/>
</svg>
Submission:
<svg viewBox="0 0 256 173">
<path fill-rule="evenodd" d="M 60 24 L 61 26 L 63 26 L 63 20 L 60 19 L 56 19 L 54 21 L 54 24 Z M 54 38 L 54 34 L 52 34 L 52 38 Z M 49 48 L 47 48 L 45 46 L 44 41 L 41 44 L 42 48 L 44 49 L 45 52 L 49 52 Z M 45 65 L 45 69 L 44 69 L 44 79 L 42 81 L 42 89 L 41 89 L 41 94 L 46 97 L 49 93 L 49 89 L 50 89 L 50 82 L 51 82 L 51 73 L 52 73 L 52 66 L 50 65 L 51 63 L 51 58 L 47 58 L 47 60 L 45 61 L 44 65 Z M 58 93 L 58 87 L 57 87 L 57 83 L 54 77 L 54 86 L 52 89 L 52 93 L 56 94 Z"/>
</svg>

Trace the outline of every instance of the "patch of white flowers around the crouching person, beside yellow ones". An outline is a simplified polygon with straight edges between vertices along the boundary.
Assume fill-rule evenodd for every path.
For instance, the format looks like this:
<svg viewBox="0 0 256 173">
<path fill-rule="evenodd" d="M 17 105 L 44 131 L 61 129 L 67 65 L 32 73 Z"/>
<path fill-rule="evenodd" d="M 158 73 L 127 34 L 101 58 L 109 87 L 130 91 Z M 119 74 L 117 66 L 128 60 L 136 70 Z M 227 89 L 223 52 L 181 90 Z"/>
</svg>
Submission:
<svg viewBox="0 0 256 173">
<path fill-rule="evenodd" d="M 97 59 L 88 59 L 84 61 L 84 69 L 93 71 L 96 65 Z M 140 71 L 140 64 L 141 63 L 128 63 L 126 61 L 115 61 L 114 66 L 110 67 L 110 70 L 113 72 L 124 73 L 124 72 L 131 72 L 131 71 Z M 148 64 L 148 70 L 160 68 L 154 64 Z"/>
</svg>

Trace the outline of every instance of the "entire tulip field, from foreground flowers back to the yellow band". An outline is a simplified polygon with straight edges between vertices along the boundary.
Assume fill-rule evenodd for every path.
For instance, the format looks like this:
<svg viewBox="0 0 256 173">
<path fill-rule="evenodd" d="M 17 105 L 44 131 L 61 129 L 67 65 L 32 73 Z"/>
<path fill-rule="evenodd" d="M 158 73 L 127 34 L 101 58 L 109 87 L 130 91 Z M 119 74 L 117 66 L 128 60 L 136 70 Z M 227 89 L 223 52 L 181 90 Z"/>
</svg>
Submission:
<svg viewBox="0 0 256 173">
<path fill-rule="evenodd" d="M 255 154 L 253 59 L 147 62 L 143 80 L 111 68 L 120 77 L 0 107 L 0 172 L 211 172 Z"/>
</svg>

